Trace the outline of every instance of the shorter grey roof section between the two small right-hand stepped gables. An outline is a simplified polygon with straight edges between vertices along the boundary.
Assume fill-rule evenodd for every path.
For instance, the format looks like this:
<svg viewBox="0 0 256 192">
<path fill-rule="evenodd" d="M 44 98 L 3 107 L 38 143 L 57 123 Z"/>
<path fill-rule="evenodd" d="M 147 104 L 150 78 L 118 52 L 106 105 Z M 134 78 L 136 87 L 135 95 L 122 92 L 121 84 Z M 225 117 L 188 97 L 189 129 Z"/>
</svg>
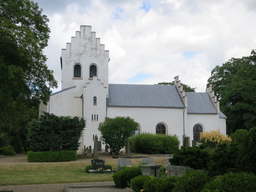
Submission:
<svg viewBox="0 0 256 192">
<path fill-rule="evenodd" d="M 188 113 L 217 113 L 208 93 L 186 92 L 188 96 Z"/>
</svg>

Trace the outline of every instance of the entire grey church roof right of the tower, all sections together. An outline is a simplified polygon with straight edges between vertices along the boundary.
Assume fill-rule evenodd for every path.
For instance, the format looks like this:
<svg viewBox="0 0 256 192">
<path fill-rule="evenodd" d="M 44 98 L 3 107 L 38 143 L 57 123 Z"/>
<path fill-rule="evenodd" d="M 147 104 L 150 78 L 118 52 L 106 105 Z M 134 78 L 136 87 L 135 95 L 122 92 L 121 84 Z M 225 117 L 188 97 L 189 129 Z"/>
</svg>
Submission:
<svg viewBox="0 0 256 192">
<path fill-rule="evenodd" d="M 186 92 L 189 114 L 217 114 L 208 93 Z M 184 108 L 174 85 L 109 84 L 109 107 Z M 226 118 L 220 111 L 219 117 Z"/>
</svg>

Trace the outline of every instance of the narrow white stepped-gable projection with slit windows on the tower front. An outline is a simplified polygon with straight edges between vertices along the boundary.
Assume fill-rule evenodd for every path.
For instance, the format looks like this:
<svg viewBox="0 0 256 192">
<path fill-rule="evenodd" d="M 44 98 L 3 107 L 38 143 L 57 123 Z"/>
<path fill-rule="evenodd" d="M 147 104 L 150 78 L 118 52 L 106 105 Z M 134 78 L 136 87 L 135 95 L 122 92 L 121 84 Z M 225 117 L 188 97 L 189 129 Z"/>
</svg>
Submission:
<svg viewBox="0 0 256 192">
<path fill-rule="evenodd" d="M 93 97 L 97 97 L 97 105 L 93 104 Z M 99 123 L 103 122 L 106 117 L 106 98 L 107 87 L 97 77 L 93 77 L 89 83 L 83 88 L 84 97 L 84 118 L 86 119 L 86 128 L 84 131 L 83 144 L 87 147 L 93 147 L 93 135 L 100 137 L 98 131 Z M 92 119 L 93 115 L 93 119 Z M 98 120 L 94 119 L 94 115 L 98 115 Z"/>
</svg>

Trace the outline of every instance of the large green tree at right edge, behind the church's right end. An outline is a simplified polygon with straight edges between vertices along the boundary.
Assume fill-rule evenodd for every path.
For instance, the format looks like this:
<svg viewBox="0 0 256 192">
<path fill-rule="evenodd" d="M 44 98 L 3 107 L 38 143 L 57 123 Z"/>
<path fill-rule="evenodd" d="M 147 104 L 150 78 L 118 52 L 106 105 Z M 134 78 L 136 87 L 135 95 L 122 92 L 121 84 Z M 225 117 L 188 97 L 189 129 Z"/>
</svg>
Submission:
<svg viewBox="0 0 256 192">
<path fill-rule="evenodd" d="M 221 98 L 220 109 L 227 116 L 228 133 L 249 130 L 256 124 L 256 52 L 232 58 L 216 66 L 208 79 Z"/>
</svg>

